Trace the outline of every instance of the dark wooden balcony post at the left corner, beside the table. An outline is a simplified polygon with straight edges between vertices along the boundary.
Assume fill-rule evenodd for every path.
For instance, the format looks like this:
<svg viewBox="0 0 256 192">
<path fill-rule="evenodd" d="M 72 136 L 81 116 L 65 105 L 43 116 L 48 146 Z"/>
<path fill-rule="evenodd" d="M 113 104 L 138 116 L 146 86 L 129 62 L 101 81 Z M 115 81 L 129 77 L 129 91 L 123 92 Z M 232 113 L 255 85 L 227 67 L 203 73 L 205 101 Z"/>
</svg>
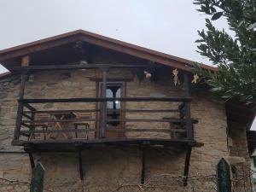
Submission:
<svg viewBox="0 0 256 192">
<path fill-rule="evenodd" d="M 23 99 L 23 97 L 24 97 L 26 77 L 27 77 L 26 72 L 21 73 L 19 99 Z M 22 120 L 22 113 L 23 113 L 23 103 L 19 102 L 18 103 L 18 110 L 17 110 L 17 118 L 16 118 L 16 123 L 15 123 L 15 140 L 18 140 L 19 137 L 20 137 L 20 124 L 21 124 L 21 120 Z"/>
</svg>

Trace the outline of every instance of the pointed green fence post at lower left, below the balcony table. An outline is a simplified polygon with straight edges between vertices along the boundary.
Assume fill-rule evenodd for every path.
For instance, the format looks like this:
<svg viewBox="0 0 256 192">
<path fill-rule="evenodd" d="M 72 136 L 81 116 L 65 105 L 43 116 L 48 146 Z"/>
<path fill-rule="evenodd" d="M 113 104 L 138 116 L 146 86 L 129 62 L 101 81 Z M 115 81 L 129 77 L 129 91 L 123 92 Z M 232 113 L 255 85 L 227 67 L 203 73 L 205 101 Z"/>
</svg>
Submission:
<svg viewBox="0 0 256 192">
<path fill-rule="evenodd" d="M 44 166 L 40 162 L 33 168 L 30 192 L 43 192 L 44 172 Z"/>
</svg>

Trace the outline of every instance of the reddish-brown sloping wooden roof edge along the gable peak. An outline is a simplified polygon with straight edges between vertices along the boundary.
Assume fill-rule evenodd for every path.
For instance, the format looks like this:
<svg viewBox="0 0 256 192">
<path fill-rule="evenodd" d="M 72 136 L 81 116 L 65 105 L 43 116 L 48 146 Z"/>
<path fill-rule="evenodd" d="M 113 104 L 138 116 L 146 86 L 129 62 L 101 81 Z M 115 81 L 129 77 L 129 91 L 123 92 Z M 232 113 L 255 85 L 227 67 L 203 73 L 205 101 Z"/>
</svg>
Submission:
<svg viewBox="0 0 256 192">
<path fill-rule="evenodd" d="M 189 61 L 173 55 L 167 55 L 152 49 L 146 49 L 135 44 L 128 44 L 113 38 L 103 37 L 96 33 L 85 32 L 84 30 L 67 32 L 51 38 L 44 38 L 29 44 L 22 44 L 9 49 L 0 50 L 0 62 L 4 67 L 9 68 L 8 64 L 5 64 L 5 61 L 21 57 L 23 55 L 30 55 L 44 49 L 50 49 L 64 44 L 70 44 L 76 41 L 84 41 L 90 44 L 95 44 L 103 48 L 113 49 L 127 55 L 133 55 L 138 58 L 154 61 L 185 71 L 189 71 L 194 63 L 194 61 Z M 216 67 L 211 67 L 204 64 L 201 64 L 201 67 L 207 70 L 217 71 Z"/>
</svg>

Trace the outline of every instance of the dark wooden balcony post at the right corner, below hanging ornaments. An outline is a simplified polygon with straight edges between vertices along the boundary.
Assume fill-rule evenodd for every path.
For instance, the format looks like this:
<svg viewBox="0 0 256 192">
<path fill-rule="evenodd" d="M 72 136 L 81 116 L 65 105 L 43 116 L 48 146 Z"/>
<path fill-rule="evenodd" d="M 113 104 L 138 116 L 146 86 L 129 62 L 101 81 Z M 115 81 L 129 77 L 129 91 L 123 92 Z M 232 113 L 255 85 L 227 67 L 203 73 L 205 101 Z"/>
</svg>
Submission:
<svg viewBox="0 0 256 192">
<path fill-rule="evenodd" d="M 189 97 L 189 74 L 184 72 L 184 85 L 185 85 L 185 96 Z M 190 112 L 190 102 L 185 102 L 185 120 L 186 120 L 186 130 L 187 138 L 194 139 L 193 127 L 191 122 L 191 112 Z"/>
</svg>

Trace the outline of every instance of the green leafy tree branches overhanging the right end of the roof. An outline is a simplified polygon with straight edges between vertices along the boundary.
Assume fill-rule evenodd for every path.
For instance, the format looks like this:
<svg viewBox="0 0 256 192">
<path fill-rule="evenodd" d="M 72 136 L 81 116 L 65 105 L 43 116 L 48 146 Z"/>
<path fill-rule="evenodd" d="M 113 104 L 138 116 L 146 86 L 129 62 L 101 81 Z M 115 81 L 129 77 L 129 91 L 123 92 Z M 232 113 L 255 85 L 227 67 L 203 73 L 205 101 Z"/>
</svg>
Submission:
<svg viewBox="0 0 256 192">
<path fill-rule="evenodd" d="M 194 0 L 200 12 L 210 15 L 207 30 L 198 31 L 198 52 L 218 66 L 215 73 L 195 63 L 192 69 L 224 99 L 256 103 L 256 0 Z M 228 32 L 218 30 L 212 20 L 226 18 Z M 215 21 L 217 22 L 217 21 Z"/>
</svg>

